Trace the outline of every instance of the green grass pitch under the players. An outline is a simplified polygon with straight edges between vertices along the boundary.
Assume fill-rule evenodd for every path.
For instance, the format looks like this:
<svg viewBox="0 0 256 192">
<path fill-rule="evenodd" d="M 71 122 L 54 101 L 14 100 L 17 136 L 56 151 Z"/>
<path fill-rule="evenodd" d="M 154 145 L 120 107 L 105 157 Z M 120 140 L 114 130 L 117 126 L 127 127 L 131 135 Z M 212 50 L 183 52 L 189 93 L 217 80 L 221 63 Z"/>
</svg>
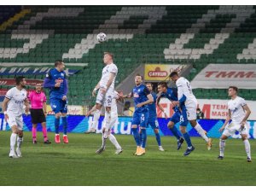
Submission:
<svg viewBox="0 0 256 192">
<path fill-rule="evenodd" d="M 241 139 L 226 142 L 224 160 L 217 160 L 218 139 L 207 151 L 201 138 L 192 137 L 195 151 L 184 157 L 177 151 L 174 137 L 161 137 L 166 152 L 160 152 L 154 137 L 148 137 L 145 155 L 133 155 L 136 149 L 132 136 L 117 135 L 122 154 L 108 141 L 106 151 L 96 154 L 101 134 L 69 134 L 68 144 L 43 143 L 38 132 L 38 144 L 32 144 L 31 132 L 25 132 L 22 158 L 9 155 L 10 132 L 0 131 L 0 186 L 7 185 L 255 185 L 255 162 L 248 163 Z M 49 133 L 54 141 L 54 134 Z M 62 140 L 61 140 L 62 142 Z M 256 160 L 256 141 L 250 140 L 252 158 Z"/>
</svg>

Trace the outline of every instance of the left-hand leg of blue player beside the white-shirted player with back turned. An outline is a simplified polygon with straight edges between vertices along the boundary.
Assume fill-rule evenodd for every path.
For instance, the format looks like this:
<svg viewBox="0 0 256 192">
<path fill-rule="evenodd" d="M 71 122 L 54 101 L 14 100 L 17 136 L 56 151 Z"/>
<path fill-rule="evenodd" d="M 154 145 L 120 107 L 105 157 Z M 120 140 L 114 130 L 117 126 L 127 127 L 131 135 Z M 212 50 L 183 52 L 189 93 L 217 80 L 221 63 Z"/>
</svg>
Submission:
<svg viewBox="0 0 256 192">
<path fill-rule="evenodd" d="M 180 115 L 180 112 L 175 112 L 167 124 L 168 128 L 172 131 L 173 136 L 177 138 L 177 150 L 179 150 L 182 147 L 184 141 L 183 137 L 180 137 L 178 135 L 176 126 L 176 124 L 180 121 Z"/>
</svg>

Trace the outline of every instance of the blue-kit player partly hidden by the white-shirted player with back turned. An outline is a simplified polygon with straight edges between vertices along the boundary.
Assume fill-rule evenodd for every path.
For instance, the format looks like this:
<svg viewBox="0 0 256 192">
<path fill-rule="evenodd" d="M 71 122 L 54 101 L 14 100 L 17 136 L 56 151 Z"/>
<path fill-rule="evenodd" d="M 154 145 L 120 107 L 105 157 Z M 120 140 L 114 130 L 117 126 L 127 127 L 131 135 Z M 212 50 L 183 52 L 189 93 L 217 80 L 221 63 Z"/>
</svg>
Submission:
<svg viewBox="0 0 256 192">
<path fill-rule="evenodd" d="M 160 82 L 160 84 L 158 84 L 157 89 L 159 91 L 159 96 L 157 98 L 157 105 L 160 108 L 160 110 L 165 113 L 164 108 L 161 107 L 160 105 L 160 99 L 163 97 L 166 97 L 167 99 L 169 99 L 171 102 L 172 101 L 177 101 L 177 89 L 176 88 L 169 88 L 166 84 L 166 82 Z M 177 124 L 180 120 L 180 111 L 179 108 L 174 107 L 172 108 L 174 113 L 172 115 L 172 118 L 169 120 L 167 127 L 170 129 L 170 131 L 172 131 L 172 134 L 174 137 L 177 138 L 177 150 L 181 148 L 182 144 L 183 144 L 183 137 L 180 137 L 178 135 L 178 131 L 177 131 L 177 126 L 175 126 L 175 124 Z M 167 115 L 165 113 L 165 116 L 167 118 Z M 186 133 L 185 136 L 186 137 Z"/>
</svg>

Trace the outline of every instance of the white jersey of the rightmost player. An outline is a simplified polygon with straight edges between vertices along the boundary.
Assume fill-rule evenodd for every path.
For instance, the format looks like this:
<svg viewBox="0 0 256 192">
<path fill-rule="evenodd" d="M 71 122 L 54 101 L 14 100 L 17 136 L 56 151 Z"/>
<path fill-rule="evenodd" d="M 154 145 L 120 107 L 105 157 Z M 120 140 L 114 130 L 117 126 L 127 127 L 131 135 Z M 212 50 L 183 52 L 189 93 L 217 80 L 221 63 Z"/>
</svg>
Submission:
<svg viewBox="0 0 256 192">
<path fill-rule="evenodd" d="M 230 109 L 231 119 L 233 123 L 241 124 L 241 120 L 246 115 L 246 112 L 242 107 L 246 104 L 247 103 L 245 102 L 245 100 L 240 96 L 236 96 L 236 99 L 231 99 L 228 102 L 228 108 Z"/>
</svg>

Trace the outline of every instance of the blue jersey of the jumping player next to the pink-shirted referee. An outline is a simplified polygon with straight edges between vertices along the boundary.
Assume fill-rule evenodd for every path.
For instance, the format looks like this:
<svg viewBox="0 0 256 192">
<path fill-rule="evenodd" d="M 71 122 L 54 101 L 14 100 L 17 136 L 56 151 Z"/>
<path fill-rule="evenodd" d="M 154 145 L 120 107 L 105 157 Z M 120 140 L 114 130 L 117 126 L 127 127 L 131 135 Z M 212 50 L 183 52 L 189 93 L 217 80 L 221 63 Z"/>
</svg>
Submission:
<svg viewBox="0 0 256 192">
<path fill-rule="evenodd" d="M 55 87 L 55 84 L 60 82 L 60 87 Z M 50 69 L 44 79 L 44 87 L 49 88 L 50 99 L 62 99 L 67 96 L 67 79 L 64 71 L 59 72 L 56 68 Z"/>
</svg>

